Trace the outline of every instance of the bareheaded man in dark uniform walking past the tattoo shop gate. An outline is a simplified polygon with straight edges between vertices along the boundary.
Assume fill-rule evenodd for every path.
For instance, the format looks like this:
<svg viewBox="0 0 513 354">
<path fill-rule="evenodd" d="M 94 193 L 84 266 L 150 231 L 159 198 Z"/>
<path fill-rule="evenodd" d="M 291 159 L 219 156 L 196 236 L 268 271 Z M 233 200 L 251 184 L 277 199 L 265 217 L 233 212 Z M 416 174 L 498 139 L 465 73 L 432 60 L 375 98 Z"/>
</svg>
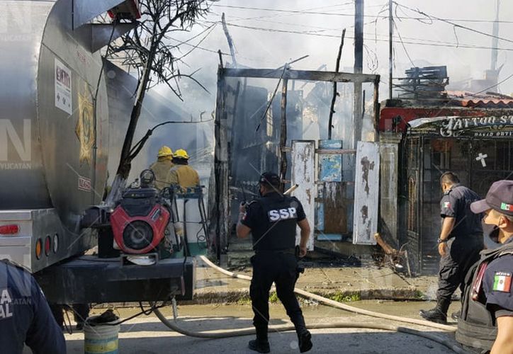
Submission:
<svg viewBox="0 0 513 354">
<path fill-rule="evenodd" d="M 465 275 L 478 261 L 479 252 L 484 247 L 481 217 L 470 210 L 470 203 L 480 198 L 459 183 L 458 176 L 452 172 L 443 173 L 440 177 L 444 196 L 440 201 L 442 225 L 438 250 L 441 258 L 436 307 L 420 310 L 424 319 L 439 324 L 447 322 L 451 297 L 458 287 L 463 294 Z"/>
</svg>

